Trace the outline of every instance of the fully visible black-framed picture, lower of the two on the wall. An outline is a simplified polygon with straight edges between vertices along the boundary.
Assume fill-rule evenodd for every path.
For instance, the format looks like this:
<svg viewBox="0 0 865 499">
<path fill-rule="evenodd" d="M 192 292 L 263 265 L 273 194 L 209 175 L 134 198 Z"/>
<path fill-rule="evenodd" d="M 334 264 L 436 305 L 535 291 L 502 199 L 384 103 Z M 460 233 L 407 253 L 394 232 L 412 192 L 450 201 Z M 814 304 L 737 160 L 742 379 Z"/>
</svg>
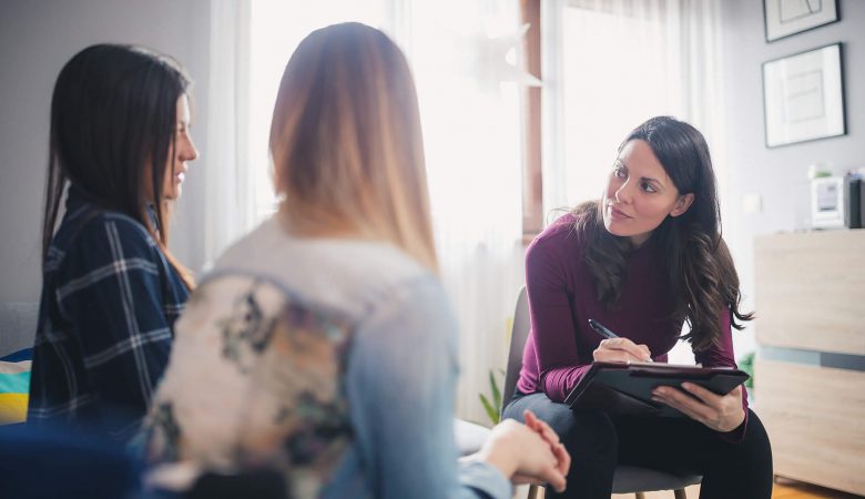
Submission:
<svg viewBox="0 0 865 499">
<path fill-rule="evenodd" d="M 766 146 L 847 133 L 842 44 L 763 63 Z"/>
</svg>

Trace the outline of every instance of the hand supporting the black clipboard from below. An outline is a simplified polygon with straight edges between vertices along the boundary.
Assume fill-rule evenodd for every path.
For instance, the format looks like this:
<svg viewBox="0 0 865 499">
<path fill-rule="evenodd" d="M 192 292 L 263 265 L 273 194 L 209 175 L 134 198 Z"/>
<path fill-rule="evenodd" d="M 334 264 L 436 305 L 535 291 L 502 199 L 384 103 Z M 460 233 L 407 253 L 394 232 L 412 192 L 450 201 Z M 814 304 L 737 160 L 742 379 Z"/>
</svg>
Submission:
<svg viewBox="0 0 865 499">
<path fill-rule="evenodd" d="M 652 390 L 652 400 L 666 404 L 715 431 L 732 431 L 745 419 L 742 385 L 726 395 L 713 394 L 693 383 L 683 383 L 682 389 L 696 398 L 671 386 L 659 386 Z"/>
</svg>

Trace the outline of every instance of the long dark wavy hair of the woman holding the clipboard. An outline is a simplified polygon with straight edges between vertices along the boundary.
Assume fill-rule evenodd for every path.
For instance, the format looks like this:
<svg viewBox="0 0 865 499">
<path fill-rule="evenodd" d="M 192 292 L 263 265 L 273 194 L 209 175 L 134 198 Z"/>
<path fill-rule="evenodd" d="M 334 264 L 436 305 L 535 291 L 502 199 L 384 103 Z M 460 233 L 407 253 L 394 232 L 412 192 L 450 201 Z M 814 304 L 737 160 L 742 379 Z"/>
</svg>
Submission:
<svg viewBox="0 0 865 499">
<path fill-rule="evenodd" d="M 721 337 L 720 314 L 729 308 L 731 324 L 742 329 L 752 313 L 739 309 L 741 292 L 733 258 L 721 237 L 715 174 L 703 134 L 688 123 L 657 116 L 635 128 L 619 146 L 644 141 L 661 162 L 680 194 L 692 193 L 693 203 L 680 216 L 668 216 L 652 232 L 648 244 L 665 255 L 666 274 L 675 299 L 676 320 L 686 322 L 683 336 L 695 350 L 704 350 Z M 576 228 L 586 237 L 584 261 L 594 279 L 598 299 L 615 308 L 625 278 L 627 237 L 610 234 L 603 225 L 602 200 L 573 210 Z"/>
</svg>

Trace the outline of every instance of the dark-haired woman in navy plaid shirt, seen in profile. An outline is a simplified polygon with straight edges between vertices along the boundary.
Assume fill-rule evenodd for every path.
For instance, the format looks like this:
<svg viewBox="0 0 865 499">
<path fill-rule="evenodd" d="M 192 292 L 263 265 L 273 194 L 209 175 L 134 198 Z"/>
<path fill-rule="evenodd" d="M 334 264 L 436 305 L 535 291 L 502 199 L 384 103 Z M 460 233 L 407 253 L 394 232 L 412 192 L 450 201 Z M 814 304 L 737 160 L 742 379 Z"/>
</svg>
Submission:
<svg viewBox="0 0 865 499">
<path fill-rule="evenodd" d="M 147 410 L 192 286 L 167 249 L 169 203 L 197 157 L 190 85 L 166 55 L 114 44 L 58 77 L 30 424 L 125 440 Z"/>
</svg>

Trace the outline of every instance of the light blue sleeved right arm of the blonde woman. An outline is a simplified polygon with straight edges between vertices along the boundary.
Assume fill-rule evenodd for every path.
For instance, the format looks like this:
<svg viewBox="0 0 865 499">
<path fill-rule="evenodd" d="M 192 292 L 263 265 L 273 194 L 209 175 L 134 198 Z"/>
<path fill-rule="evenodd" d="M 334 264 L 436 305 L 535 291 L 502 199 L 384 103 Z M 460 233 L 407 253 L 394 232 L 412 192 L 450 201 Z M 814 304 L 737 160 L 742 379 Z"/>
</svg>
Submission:
<svg viewBox="0 0 865 499">
<path fill-rule="evenodd" d="M 375 497 L 510 497 L 510 482 L 489 464 L 458 468 L 455 343 L 454 317 L 432 277 L 388 296 L 356 332 L 347 391 Z"/>
</svg>

